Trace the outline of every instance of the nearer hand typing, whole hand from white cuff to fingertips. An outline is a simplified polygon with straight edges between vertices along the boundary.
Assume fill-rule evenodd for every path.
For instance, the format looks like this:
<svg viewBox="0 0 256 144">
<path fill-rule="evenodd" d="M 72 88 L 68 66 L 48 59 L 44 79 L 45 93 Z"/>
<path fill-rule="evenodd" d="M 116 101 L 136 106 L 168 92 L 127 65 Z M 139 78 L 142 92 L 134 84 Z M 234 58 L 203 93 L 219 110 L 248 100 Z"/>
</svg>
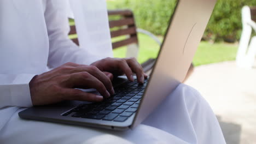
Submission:
<svg viewBox="0 0 256 144">
<path fill-rule="evenodd" d="M 62 100 L 102 101 L 114 94 L 110 73 L 103 73 L 92 65 L 66 63 L 30 81 L 33 105 L 46 105 Z M 75 88 L 96 88 L 101 95 Z"/>
</svg>

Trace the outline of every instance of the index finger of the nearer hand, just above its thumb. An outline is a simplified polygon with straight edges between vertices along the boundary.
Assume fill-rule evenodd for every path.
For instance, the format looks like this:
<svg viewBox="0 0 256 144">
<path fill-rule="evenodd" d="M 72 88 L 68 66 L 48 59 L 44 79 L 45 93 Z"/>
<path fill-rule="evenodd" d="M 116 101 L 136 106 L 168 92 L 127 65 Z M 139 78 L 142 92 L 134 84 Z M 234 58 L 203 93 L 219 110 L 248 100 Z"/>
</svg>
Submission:
<svg viewBox="0 0 256 144">
<path fill-rule="evenodd" d="M 104 97 L 110 97 L 110 94 L 107 91 L 106 87 L 103 85 L 103 83 L 88 72 L 71 74 L 69 77 L 69 83 L 72 88 L 95 88 Z"/>
</svg>

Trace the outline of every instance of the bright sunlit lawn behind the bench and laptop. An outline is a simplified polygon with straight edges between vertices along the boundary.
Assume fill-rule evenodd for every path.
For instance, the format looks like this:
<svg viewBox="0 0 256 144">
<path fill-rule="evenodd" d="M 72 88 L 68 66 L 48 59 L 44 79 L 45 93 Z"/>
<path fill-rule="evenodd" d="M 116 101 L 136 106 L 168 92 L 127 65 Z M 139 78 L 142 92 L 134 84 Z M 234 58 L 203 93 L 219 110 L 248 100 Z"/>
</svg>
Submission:
<svg viewBox="0 0 256 144">
<path fill-rule="evenodd" d="M 113 39 L 112 41 L 119 40 Z M 139 55 L 138 62 L 143 63 L 149 58 L 156 58 L 159 52 L 159 45 L 147 35 L 138 34 Z M 162 39 L 162 38 L 160 38 Z M 237 44 L 215 43 L 201 41 L 193 59 L 195 66 L 202 64 L 233 61 L 236 57 Z M 126 47 L 114 50 L 114 57 L 125 57 Z"/>
</svg>

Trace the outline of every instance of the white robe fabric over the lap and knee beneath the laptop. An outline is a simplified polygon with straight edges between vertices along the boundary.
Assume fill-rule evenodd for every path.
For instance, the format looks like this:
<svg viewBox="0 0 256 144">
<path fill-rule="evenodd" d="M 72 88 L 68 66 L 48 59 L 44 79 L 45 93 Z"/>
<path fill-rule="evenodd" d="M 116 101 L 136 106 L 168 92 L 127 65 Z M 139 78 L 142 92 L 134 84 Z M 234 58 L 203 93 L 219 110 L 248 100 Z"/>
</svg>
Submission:
<svg viewBox="0 0 256 144">
<path fill-rule="evenodd" d="M 128 131 L 25 120 L 18 116 L 21 110 L 24 109 L 0 110 L 0 116 L 4 117 L 0 143 L 86 143 L 87 140 L 94 143 L 104 141 L 106 134 L 119 136 L 107 139 L 112 143 L 122 143 L 120 137 L 133 143 L 225 143 L 211 107 L 195 89 L 183 84 L 143 124 Z"/>
</svg>

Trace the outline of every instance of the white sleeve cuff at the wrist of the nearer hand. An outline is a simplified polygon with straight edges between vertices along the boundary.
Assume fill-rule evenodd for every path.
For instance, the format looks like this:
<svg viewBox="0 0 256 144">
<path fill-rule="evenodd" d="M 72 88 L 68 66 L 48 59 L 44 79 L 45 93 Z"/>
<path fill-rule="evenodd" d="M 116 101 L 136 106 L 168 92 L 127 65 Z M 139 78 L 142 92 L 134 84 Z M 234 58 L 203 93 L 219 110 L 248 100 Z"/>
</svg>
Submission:
<svg viewBox="0 0 256 144">
<path fill-rule="evenodd" d="M 5 106 L 31 107 L 29 82 L 33 74 L 0 74 L 0 108 Z"/>
</svg>

